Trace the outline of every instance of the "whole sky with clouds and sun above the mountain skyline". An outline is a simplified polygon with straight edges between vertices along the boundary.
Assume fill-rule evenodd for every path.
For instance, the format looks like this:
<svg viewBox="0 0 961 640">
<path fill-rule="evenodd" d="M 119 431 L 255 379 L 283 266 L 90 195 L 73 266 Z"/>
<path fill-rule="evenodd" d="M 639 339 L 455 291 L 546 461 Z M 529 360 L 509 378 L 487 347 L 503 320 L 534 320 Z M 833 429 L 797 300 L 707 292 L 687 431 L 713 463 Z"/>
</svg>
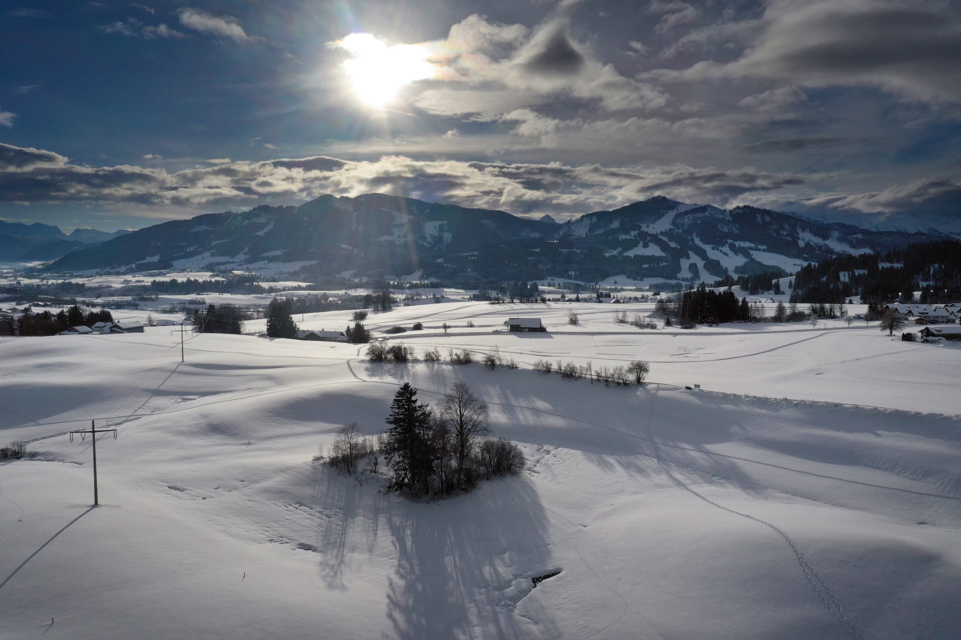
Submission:
<svg viewBox="0 0 961 640">
<path fill-rule="evenodd" d="M 954 2 L 3 12 L 5 220 L 112 230 L 371 191 L 560 219 L 655 194 L 959 215 Z"/>
</svg>

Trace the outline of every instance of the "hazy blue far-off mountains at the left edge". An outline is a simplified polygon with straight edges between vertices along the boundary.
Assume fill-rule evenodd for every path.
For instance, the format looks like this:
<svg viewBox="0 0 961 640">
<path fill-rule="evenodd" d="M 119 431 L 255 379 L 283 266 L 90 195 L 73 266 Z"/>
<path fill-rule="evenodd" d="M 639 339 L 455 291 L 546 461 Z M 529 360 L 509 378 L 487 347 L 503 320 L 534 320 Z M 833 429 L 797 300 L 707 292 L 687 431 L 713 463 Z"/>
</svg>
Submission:
<svg viewBox="0 0 961 640">
<path fill-rule="evenodd" d="M 67 235 L 59 226 L 8 223 L 0 220 L 0 262 L 54 260 L 75 249 L 88 248 L 119 237 L 127 230 L 74 229 Z"/>
</svg>

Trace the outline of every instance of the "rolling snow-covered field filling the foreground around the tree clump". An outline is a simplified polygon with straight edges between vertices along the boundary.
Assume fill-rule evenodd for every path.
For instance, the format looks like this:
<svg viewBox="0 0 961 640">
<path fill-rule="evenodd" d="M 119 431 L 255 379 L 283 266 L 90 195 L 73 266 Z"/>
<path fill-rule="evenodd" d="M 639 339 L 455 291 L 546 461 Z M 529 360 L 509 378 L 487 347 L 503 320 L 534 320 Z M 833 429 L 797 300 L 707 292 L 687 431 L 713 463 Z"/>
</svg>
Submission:
<svg viewBox="0 0 961 640">
<path fill-rule="evenodd" d="M 0 439 L 41 452 L 0 462 L 0 635 L 957 637 L 961 348 L 863 322 L 638 330 L 610 320 L 621 306 L 367 319 L 422 321 L 391 337 L 418 351 L 497 346 L 518 370 L 215 335 L 181 364 L 161 327 L 0 339 Z M 552 331 L 495 333 L 515 315 Z M 541 358 L 643 358 L 651 383 L 562 380 L 530 370 Z M 429 402 L 467 382 L 525 472 L 412 503 L 311 465 L 345 422 L 382 431 L 405 380 Z M 65 435 L 91 418 L 119 435 L 98 440 L 93 510 L 90 441 Z"/>
</svg>

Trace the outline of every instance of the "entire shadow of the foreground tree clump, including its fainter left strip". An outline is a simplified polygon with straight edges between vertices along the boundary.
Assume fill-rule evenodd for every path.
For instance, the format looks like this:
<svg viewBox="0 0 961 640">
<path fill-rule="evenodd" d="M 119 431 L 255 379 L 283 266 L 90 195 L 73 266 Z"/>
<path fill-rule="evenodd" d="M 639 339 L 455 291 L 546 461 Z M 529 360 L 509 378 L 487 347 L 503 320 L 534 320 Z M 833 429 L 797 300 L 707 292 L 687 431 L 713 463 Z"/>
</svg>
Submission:
<svg viewBox="0 0 961 640">
<path fill-rule="evenodd" d="M 482 628 L 485 638 L 526 637 L 528 620 L 544 637 L 558 635 L 536 600 L 524 604 L 523 616 L 514 611 L 530 593 L 530 579 L 556 569 L 546 512 L 526 479 L 415 501 L 382 492 L 377 481 L 318 472 L 321 576 L 329 588 L 346 591 L 351 574 L 378 549 L 378 536 L 389 532 L 397 555 L 386 593 L 394 636 L 474 637 Z"/>
</svg>

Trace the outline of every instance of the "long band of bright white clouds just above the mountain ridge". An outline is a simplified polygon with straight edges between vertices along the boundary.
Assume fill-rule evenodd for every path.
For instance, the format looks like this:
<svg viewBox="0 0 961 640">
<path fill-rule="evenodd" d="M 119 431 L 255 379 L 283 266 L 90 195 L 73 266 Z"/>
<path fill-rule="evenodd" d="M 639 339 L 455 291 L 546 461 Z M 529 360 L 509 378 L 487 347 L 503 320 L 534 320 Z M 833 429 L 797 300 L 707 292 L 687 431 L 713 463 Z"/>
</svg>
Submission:
<svg viewBox="0 0 961 640">
<path fill-rule="evenodd" d="M 512 114 L 539 135 L 554 123 L 536 113 Z M 220 158 L 226 159 L 226 158 Z M 130 165 L 83 167 L 52 152 L 0 144 L 0 200 L 79 201 L 135 205 L 154 215 L 157 207 L 181 207 L 185 215 L 217 205 L 283 202 L 323 194 L 406 195 L 427 201 L 498 208 L 515 213 L 585 213 L 658 193 L 693 201 L 727 204 L 744 196 L 777 192 L 803 183 L 786 173 L 745 167 L 693 168 L 684 164 L 604 167 L 417 160 L 384 155 L 349 161 L 328 156 L 263 162 L 229 162 L 167 173 Z M 168 216 L 169 217 L 169 216 Z"/>
</svg>

